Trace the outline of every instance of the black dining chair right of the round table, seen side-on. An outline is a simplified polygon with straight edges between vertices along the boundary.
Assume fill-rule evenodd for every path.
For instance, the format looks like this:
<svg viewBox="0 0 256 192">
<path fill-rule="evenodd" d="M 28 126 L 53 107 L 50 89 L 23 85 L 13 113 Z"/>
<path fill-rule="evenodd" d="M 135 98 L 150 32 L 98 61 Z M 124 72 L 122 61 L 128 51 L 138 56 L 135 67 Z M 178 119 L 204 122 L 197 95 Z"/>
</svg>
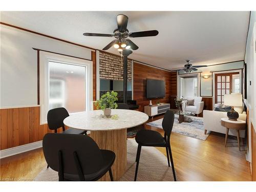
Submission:
<svg viewBox="0 0 256 192">
<path fill-rule="evenodd" d="M 162 122 L 162 127 L 164 130 L 164 137 L 159 132 L 152 131 L 152 130 L 140 130 L 137 133 L 135 140 L 138 143 L 138 149 L 137 149 L 137 155 L 136 155 L 137 164 L 136 164 L 134 181 L 136 181 L 136 179 L 137 179 L 141 146 L 165 147 L 168 166 L 170 166 L 170 162 L 171 162 L 172 169 L 173 169 L 173 175 L 174 175 L 174 181 L 176 181 L 173 155 L 172 155 L 172 150 L 170 149 L 170 134 L 172 133 L 173 124 L 174 124 L 174 112 L 168 110 L 164 114 L 164 118 L 163 118 L 163 122 Z M 169 157 L 170 157 L 170 162 L 169 162 Z"/>
</svg>

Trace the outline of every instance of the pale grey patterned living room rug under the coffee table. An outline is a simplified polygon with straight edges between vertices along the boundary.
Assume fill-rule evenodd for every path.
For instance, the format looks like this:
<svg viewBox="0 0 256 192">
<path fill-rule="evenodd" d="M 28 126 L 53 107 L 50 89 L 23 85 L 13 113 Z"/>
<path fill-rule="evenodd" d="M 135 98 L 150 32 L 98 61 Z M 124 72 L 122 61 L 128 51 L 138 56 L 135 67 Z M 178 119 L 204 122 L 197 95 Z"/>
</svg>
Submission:
<svg viewBox="0 0 256 192">
<path fill-rule="evenodd" d="M 196 138 L 196 139 L 201 139 L 201 140 L 206 140 L 208 138 L 210 132 L 207 131 L 206 135 L 204 135 L 204 123 L 203 123 L 202 117 L 191 116 L 190 118 L 193 121 L 189 123 L 187 122 L 179 123 L 178 117 L 179 116 L 175 114 L 173 132 L 176 132 L 188 137 Z M 152 121 L 147 124 L 163 129 L 162 121 L 163 121 L 163 118 L 158 119 L 156 121 Z"/>
</svg>

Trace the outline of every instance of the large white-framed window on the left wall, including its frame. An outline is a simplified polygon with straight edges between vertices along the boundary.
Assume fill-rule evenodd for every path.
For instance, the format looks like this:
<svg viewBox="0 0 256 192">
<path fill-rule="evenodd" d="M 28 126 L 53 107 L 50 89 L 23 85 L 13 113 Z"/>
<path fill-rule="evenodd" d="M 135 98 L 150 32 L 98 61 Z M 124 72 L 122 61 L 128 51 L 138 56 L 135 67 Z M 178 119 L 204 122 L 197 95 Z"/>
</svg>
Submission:
<svg viewBox="0 0 256 192">
<path fill-rule="evenodd" d="M 55 53 L 39 53 L 40 123 L 49 110 L 64 107 L 70 114 L 93 109 L 92 61 Z"/>
</svg>

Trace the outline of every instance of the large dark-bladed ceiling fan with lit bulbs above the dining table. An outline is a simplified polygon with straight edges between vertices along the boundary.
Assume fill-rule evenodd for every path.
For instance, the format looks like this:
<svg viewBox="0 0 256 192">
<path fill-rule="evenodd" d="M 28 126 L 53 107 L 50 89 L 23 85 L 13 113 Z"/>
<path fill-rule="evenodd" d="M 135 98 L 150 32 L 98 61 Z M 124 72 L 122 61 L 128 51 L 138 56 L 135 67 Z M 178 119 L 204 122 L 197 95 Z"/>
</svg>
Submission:
<svg viewBox="0 0 256 192">
<path fill-rule="evenodd" d="M 84 36 L 98 36 L 98 37 L 115 37 L 116 39 L 111 41 L 110 44 L 105 46 L 103 50 L 108 50 L 112 46 L 118 49 L 118 51 L 122 51 L 124 49 L 132 49 L 137 50 L 139 47 L 134 44 L 133 41 L 129 39 L 129 37 L 147 37 L 147 36 L 156 36 L 158 35 L 157 30 L 151 31 L 140 31 L 129 33 L 127 29 L 128 17 L 126 15 L 120 14 L 117 15 L 117 29 L 113 31 L 113 34 L 102 34 L 102 33 L 83 33 Z"/>
</svg>

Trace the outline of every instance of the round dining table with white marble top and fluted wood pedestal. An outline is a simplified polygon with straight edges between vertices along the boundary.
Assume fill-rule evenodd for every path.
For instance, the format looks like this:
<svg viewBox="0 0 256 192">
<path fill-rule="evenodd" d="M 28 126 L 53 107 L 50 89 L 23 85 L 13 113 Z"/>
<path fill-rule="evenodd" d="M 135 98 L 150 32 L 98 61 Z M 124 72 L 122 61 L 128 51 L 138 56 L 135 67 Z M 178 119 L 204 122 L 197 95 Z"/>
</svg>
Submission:
<svg viewBox="0 0 256 192">
<path fill-rule="evenodd" d="M 111 116 L 105 117 L 102 110 L 87 111 L 70 115 L 63 123 L 75 129 L 90 131 L 90 137 L 99 148 L 111 150 L 116 154 L 112 173 L 114 180 L 117 181 L 126 171 L 127 129 L 143 124 L 148 120 L 148 116 L 134 110 L 111 110 Z M 109 174 L 105 174 L 100 180 L 110 181 Z"/>
</svg>

